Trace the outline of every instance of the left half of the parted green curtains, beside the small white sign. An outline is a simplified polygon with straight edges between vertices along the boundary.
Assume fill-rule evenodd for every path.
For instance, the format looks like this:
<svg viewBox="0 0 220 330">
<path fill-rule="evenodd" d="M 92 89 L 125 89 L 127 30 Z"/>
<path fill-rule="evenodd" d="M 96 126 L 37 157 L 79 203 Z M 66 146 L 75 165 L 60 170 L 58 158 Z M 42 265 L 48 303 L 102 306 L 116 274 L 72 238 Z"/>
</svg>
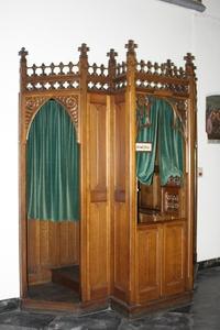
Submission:
<svg viewBox="0 0 220 330">
<path fill-rule="evenodd" d="M 136 177 L 144 185 L 151 185 L 154 174 L 154 164 L 156 157 L 156 140 L 157 140 L 157 124 L 160 102 L 150 99 L 150 125 L 146 127 L 147 117 L 145 106 L 139 107 L 136 110 L 136 120 L 139 122 L 139 132 L 136 142 L 152 143 L 152 152 L 136 152 Z"/>
</svg>

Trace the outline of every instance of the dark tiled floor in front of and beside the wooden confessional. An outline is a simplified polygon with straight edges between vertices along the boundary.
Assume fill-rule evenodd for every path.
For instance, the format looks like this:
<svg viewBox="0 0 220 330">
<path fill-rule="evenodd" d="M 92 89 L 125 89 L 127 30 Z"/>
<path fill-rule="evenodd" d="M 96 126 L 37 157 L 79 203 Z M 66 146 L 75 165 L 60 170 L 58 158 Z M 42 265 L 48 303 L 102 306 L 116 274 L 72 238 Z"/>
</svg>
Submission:
<svg viewBox="0 0 220 330">
<path fill-rule="evenodd" d="M 0 301 L 0 329 L 61 330 L 220 330 L 220 267 L 198 273 L 194 302 L 185 308 L 127 319 L 112 310 L 90 315 L 21 311 L 18 301 Z"/>
</svg>

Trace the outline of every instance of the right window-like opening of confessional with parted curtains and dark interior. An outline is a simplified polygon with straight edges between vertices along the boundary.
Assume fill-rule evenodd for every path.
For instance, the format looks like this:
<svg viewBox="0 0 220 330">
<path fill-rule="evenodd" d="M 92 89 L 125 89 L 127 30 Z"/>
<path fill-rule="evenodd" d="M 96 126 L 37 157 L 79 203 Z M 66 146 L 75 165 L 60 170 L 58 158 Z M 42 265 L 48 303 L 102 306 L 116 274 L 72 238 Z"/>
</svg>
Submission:
<svg viewBox="0 0 220 330">
<path fill-rule="evenodd" d="M 184 217 L 185 135 L 176 109 L 162 98 L 141 98 L 136 109 L 138 219 L 140 222 Z M 180 215 L 182 212 L 182 215 Z"/>
</svg>

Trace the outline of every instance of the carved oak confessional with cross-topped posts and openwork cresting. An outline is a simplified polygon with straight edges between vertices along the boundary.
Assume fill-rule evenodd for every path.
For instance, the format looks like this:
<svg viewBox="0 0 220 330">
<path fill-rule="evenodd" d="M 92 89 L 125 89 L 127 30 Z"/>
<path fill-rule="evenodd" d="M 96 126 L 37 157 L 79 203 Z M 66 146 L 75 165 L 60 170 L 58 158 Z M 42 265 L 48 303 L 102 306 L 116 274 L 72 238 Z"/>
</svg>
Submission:
<svg viewBox="0 0 220 330">
<path fill-rule="evenodd" d="M 197 154 L 194 57 L 187 54 L 185 68 L 177 68 L 170 61 L 139 62 L 133 41 L 125 47 L 127 61 L 118 64 L 117 53 L 110 50 L 107 67 L 88 63 L 86 44 L 79 47 L 77 64 L 29 66 L 28 52 L 19 53 L 20 268 L 25 307 L 75 310 L 111 304 L 134 315 L 191 299 Z M 182 124 L 183 175 L 180 180 L 169 177 L 163 186 L 157 151 L 151 185 L 136 178 L 136 109 L 151 110 L 152 99 L 169 103 Z M 28 220 L 26 140 L 38 110 L 50 100 L 67 111 L 79 143 L 78 222 Z M 56 282 L 56 272 L 65 267 L 78 267 L 74 288 L 69 278 L 62 282 L 73 297 L 78 292 L 78 301 L 36 299 L 30 294 L 32 286 Z"/>
</svg>

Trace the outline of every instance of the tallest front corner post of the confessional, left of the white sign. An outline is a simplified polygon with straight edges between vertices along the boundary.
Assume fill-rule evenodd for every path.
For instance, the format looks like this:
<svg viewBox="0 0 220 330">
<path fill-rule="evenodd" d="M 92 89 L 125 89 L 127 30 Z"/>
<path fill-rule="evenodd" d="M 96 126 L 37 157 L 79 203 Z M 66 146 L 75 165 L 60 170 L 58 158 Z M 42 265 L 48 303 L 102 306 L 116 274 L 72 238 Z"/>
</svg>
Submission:
<svg viewBox="0 0 220 330">
<path fill-rule="evenodd" d="M 129 226 L 129 302 L 136 300 L 135 290 L 135 246 L 136 246 L 136 174 L 135 174 L 135 138 L 136 138 L 136 113 L 135 113 L 135 70 L 138 45 L 130 40 L 125 45 L 127 52 L 127 95 L 125 95 L 125 127 L 127 127 L 127 148 L 125 148 L 125 198 L 128 206 L 128 226 Z"/>
</svg>

